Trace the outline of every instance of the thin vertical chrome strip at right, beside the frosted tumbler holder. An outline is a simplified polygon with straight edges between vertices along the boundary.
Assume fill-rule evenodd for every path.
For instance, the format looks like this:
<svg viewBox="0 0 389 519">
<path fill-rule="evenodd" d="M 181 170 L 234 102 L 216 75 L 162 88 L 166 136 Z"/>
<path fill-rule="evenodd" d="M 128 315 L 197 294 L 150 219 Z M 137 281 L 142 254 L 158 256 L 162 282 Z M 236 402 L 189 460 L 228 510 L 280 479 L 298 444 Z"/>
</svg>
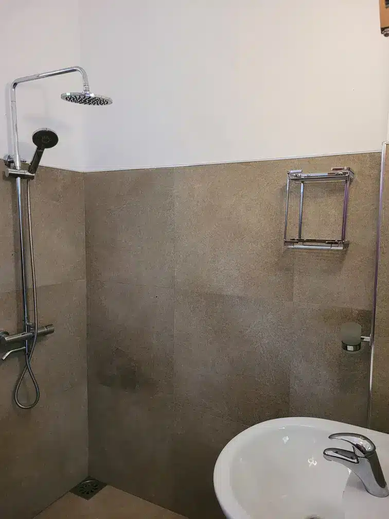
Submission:
<svg viewBox="0 0 389 519">
<path fill-rule="evenodd" d="M 377 292 L 378 292 L 378 274 L 380 267 L 381 254 L 381 225 L 384 197 L 384 180 L 385 180 L 385 162 L 386 162 L 386 146 L 388 141 L 382 143 L 381 152 L 381 173 L 380 173 L 380 202 L 378 210 L 377 222 L 377 243 L 376 243 L 376 265 L 374 269 L 374 285 L 373 285 L 373 301 L 371 309 L 371 330 L 370 330 L 370 370 L 369 370 L 369 402 L 367 409 L 367 426 L 371 427 L 371 398 L 373 393 L 373 364 L 374 364 L 374 342 L 376 333 L 376 316 L 377 316 Z"/>
</svg>

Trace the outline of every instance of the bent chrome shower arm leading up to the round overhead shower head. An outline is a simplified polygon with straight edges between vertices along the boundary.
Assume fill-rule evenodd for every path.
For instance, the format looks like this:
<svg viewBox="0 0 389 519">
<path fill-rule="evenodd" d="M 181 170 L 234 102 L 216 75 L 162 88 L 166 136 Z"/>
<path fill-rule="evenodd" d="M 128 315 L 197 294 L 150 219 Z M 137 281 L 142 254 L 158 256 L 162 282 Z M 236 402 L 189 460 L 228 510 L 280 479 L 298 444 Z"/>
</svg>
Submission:
<svg viewBox="0 0 389 519">
<path fill-rule="evenodd" d="M 33 74 L 32 76 L 18 77 L 13 80 L 10 86 L 10 114 L 11 114 L 11 145 L 13 152 L 13 169 L 21 169 L 21 160 L 19 154 L 19 140 L 18 140 L 18 120 L 16 113 L 16 87 L 19 83 L 26 83 L 27 81 L 34 81 L 35 79 L 44 79 L 45 77 L 60 76 L 62 74 L 69 74 L 70 72 L 79 72 L 82 76 L 82 83 L 84 84 L 84 92 L 89 92 L 89 81 L 87 73 L 80 66 L 71 66 L 66 69 L 52 70 L 50 72 L 43 72 L 41 74 Z"/>
</svg>

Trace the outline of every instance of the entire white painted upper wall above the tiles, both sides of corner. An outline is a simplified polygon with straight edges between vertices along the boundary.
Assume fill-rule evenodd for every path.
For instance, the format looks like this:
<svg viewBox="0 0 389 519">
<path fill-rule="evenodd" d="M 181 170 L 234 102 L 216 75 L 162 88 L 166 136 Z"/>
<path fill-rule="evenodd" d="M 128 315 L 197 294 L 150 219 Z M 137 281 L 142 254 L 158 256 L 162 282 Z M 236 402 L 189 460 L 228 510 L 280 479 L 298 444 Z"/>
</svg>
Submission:
<svg viewBox="0 0 389 519">
<path fill-rule="evenodd" d="M 70 65 L 107 107 L 60 99 L 78 74 L 17 90 L 22 155 L 121 169 L 365 152 L 386 139 L 389 40 L 376 0 L 3 0 L 0 78 Z M 0 155 L 8 151 L 6 117 Z"/>
</svg>

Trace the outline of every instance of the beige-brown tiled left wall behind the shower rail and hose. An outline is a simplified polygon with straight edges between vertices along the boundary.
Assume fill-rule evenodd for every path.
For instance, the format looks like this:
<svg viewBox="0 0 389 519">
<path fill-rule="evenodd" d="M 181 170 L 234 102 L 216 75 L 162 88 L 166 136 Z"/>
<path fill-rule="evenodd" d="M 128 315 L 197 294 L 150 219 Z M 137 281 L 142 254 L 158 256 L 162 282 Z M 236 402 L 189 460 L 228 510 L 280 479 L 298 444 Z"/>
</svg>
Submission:
<svg viewBox="0 0 389 519">
<path fill-rule="evenodd" d="M 39 323 L 32 362 L 41 398 L 31 411 L 12 401 L 21 354 L 0 364 L 0 516 L 30 519 L 87 475 L 84 179 L 39 168 L 31 183 Z M 21 331 L 15 181 L 0 189 L 0 328 Z M 2 350 L 4 352 L 4 349 Z M 35 398 L 30 380 L 22 401 Z"/>
</svg>

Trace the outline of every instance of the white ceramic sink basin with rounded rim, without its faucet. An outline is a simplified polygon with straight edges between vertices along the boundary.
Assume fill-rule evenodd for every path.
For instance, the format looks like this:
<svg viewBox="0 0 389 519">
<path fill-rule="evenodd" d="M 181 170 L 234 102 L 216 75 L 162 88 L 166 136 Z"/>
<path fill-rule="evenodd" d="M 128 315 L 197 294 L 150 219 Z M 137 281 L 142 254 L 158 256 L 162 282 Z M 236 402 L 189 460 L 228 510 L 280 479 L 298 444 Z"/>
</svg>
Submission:
<svg viewBox="0 0 389 519">
<path fill-rule="evenodd" d="M 337 432 L 368 436 L 389 485 L 389 435 L 319 418 L 280 418 L 246 429 L 220 453 L 217 499 L 228 519 L 388 519 L 389 497 L 368 494 L 358 477 L 326 461 Z"/>
</svg>

